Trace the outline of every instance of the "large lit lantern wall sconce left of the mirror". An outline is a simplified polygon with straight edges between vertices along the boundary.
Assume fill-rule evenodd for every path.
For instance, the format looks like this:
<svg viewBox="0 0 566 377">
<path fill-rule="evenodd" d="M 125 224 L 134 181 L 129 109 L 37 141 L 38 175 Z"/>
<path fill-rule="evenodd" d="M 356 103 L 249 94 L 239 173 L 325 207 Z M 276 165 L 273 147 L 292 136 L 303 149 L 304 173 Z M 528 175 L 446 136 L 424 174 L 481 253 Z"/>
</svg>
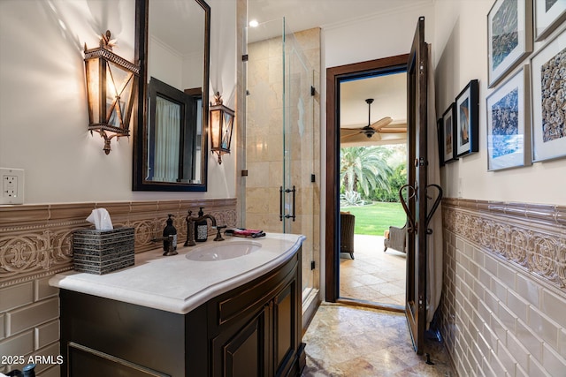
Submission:
<svg viewBox="0 0 566 377">
<path fill-rule="evenodd" d="M 96 49 L 87 49 L 85 43 L 88 130 L 91 135 L 96 131 L 104 138 L 106 155 L 110 154 L 112 138 L 130 136 L 129 124 L 140 74 L 138 65 L 112 52 L 114 44 L 110 30 L 102 34 Z"/>
</svg>

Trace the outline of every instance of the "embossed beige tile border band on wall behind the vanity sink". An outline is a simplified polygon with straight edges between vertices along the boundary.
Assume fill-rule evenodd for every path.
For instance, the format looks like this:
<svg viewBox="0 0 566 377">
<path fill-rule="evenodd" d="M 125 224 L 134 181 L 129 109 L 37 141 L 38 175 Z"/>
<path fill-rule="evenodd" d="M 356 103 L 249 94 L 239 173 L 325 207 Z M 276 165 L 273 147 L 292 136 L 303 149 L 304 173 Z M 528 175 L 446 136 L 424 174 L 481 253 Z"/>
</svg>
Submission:
<svg viewBox="0 0 566 377">
<path fill-rule="evenodd" d="M 164 200 L 0 207 L 0 288 L 73 268 L 73 231 L 91 226 L 94 208 L 104 207 L 117 227 L 133 227 L 135 253 L 159 247 L 168 214 L 180 243 L 187 237 L 185 217 L 204 207 L 218 224 L 236 225 L 236 200 Z M 210 235 L 214 233 L 210 230 Z"/>
</svg>

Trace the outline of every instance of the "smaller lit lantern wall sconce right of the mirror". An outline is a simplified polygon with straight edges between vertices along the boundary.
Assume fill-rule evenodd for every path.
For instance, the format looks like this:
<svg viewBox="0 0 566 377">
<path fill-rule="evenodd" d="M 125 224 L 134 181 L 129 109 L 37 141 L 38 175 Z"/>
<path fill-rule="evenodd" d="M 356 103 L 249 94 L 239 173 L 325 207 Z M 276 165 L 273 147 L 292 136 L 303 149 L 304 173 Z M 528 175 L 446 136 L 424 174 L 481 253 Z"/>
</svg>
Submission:
<svg viewBox="0 0 566 377">
<path fill-rule="evenodd" d="M 210 152 L 217 153 L 218 163 L 222 164 L 222 155 L 230 153 L 232 141 L 233 110 L 222 104 L 220 93 L 214 95 L 215 103 L 210 103 Z"/>
</svg>

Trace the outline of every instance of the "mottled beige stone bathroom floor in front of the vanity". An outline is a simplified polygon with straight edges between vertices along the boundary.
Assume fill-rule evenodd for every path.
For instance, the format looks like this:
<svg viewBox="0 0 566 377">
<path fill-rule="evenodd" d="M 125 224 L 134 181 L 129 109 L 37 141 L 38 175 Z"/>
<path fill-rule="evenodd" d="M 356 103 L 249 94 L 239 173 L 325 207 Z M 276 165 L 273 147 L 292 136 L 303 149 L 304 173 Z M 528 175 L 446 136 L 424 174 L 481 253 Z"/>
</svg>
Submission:
<svg viewBox="0 0 566 377">
<path fill-rule="evenodd" d="M 426 341 L 434 365 L 413 351 L 402 313 L 323 303 L 303 342 L 307 366 L 302 377 L 456 375 L 443 344 Z"/>
</svg>

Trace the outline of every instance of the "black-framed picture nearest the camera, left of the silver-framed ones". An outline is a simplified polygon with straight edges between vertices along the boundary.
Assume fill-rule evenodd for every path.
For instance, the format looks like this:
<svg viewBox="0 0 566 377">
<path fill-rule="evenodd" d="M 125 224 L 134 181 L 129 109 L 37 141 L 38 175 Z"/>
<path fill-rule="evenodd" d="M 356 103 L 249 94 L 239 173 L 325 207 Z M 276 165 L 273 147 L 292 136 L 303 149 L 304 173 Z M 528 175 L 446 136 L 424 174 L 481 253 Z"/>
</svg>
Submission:
<svg viewBox="0 0 566 377">
<path fill-rule="evenodd" d="M 458 94 L 455 102 L 454 136 L 457 157 L 478 152 L 478 111 L 478 80 L 472 79 Z"/>
</svg>

